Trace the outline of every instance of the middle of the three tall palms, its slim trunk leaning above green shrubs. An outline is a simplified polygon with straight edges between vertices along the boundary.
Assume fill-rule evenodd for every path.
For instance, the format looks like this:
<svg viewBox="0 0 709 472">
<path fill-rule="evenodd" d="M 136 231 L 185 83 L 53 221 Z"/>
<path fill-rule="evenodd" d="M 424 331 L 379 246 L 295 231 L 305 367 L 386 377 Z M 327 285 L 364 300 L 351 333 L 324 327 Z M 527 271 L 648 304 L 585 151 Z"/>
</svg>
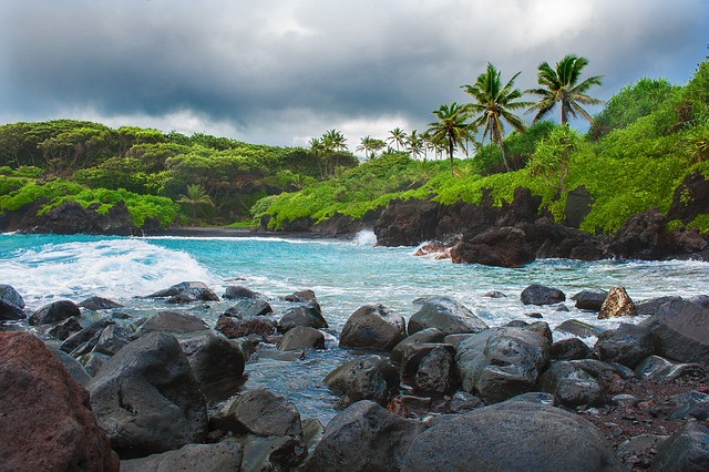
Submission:
<svg viewBox="0 0 709 472">
<path fill-rule="evenodd" d="M 514 89 L 514 80 L 517 75 L 520 72 L 514 74 L 510 82 L 503 86 L 500 71 L 489 62 L 487 70 L 477 75 L 474 85 L 462 86 L 466 93 L 475 99 L 475 103 L 465 105 L 466 110 L 475 117 L 472 124 L 475 127 L 483 126 L 483 141 L 485 135 L 490 134 L 492 142 L 500 146 L 502 163 L 506 171 L 510 171 L 510 164 L 507 164 L 505 148 L 502 144 L 505 135 L 504 122 L 510 123 L 518 132 L 524 131 L 524 121 L 512 112 L 532 104 L 516 102 L 522 98 L 522 92 Z"/>
</svg>

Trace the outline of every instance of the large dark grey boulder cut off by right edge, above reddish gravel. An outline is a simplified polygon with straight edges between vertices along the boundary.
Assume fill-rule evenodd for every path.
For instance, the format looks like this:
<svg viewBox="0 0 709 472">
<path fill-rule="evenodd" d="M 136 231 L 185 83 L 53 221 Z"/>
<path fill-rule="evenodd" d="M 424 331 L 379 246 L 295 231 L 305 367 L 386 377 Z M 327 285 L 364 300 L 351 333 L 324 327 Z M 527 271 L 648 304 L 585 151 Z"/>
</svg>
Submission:
<svg viewBox="0 0 709 472">
<path fill-rule="evenodd" d="M 670 301 L 643 321 L 655 338 L 655 352 L 680 362 L 709 362 L 709 309 Z"/>
</svg>

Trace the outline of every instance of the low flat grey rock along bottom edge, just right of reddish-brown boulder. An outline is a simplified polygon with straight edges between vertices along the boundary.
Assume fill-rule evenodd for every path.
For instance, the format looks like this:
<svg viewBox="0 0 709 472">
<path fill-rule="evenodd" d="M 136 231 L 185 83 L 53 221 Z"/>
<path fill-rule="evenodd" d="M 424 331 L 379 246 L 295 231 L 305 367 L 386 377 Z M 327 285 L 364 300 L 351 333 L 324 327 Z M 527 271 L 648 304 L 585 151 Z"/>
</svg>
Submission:
<svg viewBox="0 0 709 472">
<path fill-rule="evenodd" d="M 233 441 L 186 444 L 176 451 L 121 461 L 121 472 L 238 471 L 243 455 L 242 444 Z"/>
</svg>

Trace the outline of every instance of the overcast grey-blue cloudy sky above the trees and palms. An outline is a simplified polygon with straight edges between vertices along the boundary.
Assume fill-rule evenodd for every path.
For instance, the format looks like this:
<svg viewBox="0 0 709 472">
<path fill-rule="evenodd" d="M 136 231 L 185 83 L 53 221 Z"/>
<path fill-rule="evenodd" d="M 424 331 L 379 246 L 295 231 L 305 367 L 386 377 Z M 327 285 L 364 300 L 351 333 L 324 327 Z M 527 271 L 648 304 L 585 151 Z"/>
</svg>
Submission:
<svg viewBox="0 0 709 472">
<path fill-rule="evenodd" d="M 605 100 L 686 83 L 708 43 L 703 0 L 0 0 L 0 123 L 285 146 L 337 129 L 354 150 L 425 130 L 487 62 L 525 90 L 541 62 L 583 55 Z"/>
</svg>

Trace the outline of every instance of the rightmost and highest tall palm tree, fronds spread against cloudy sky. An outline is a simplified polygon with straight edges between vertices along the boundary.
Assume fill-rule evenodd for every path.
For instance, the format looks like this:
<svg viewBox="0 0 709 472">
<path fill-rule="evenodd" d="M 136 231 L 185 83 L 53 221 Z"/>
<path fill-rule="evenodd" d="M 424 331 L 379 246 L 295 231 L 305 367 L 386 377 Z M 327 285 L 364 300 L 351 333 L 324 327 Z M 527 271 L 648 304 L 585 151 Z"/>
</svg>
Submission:
<svg viewBox="0 0 709 472">
<path fill-rule="evenodd" d="M 603 103 L 598 99 L 586 95 L 593 85 L 600 85 L 603 75 L 594 75 L 582 82 L 580 71 L 588 64 L 586 58 L 577 58 L 567 54 L 556 63 L 556 69 L 542 62 L 537 69 L 537 82 L 542 88 L 527 90 L 526 93 L 540 96 L 540 102 L 532 105 L 526 113 L 537 110 L 533 122 L 542 120 L 556 103 L 562 107 L 562 124 L 568 123 L 568 117 L 576 117 L 580 114 L 588 123 L 593 124 L 594 119 L 583 109 L 583 105 L 597 105 Z"/>
</svg>

